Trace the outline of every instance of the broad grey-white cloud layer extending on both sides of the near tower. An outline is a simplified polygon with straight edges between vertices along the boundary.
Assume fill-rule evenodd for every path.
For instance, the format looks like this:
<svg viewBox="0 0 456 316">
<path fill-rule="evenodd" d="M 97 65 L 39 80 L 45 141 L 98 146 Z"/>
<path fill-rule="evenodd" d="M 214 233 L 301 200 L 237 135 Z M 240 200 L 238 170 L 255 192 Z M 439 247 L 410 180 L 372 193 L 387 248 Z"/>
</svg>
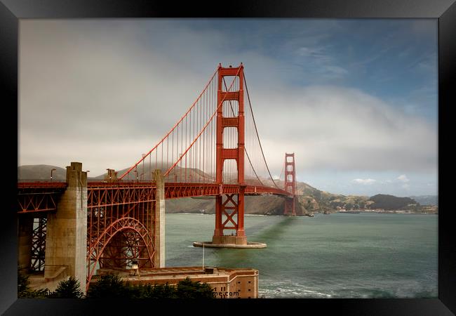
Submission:
<svg viewBox="0 0 456 316">
<path fill-rule="evenodd" d="M 437 131 L 426 121 L 356 88 L 285 84 L 285 64 L 230 50 L 215 30 L 166 21 L 147 30 L 115 21 L 20 23 L 20 164 L 78 159 L 93 176 L 130 166 L 188 109 L 218 62 L 242 61 L 273 174 L 285 152 L 295 152 L 302 173 L 436 171 Z M 305 46 L 302 62 L 316 58 L 328 73 L 347 75 L 315 49 Z"/>
</svg>

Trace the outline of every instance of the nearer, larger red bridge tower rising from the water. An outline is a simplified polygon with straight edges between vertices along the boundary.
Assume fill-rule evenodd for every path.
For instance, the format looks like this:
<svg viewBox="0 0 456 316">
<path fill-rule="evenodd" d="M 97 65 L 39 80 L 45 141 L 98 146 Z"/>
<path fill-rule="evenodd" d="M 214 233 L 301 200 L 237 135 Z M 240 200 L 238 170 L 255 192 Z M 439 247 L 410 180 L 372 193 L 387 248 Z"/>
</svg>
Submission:
<svg viewBox="0 0 456 316">
<path fill-rule="evenodd" d="M 217 108 L 217 136 L 215 154 L 215 182 L 220 185 L 220 194 L 215 197 L 215 230 L 213 244 L 239 244 L 246 245 L 247 237 L 244 230 L 244 74 L 243 65 L 239 67 L 218 67 L 217 105 L 224 102 L 238 104 L 238 115 L 228 117 L 223 113 L 223 105 Z M 222 86 L 224 77 L 238 77 L 238 91 L 226 91 Z M 229 80 L 232 81 L 232 80 Z M 238 132 L 238 144 L 236 148 L 225 148 L 223 132 L 227 127 L 234 127 Z M 223 165 L 225 160 L 234 159 L 237 164 L 237 182 L 241 185 L 239 194 L 224 194 L 222 192 Z M 234 230 L 225 235 L 225 230 Z"/>
</svg>

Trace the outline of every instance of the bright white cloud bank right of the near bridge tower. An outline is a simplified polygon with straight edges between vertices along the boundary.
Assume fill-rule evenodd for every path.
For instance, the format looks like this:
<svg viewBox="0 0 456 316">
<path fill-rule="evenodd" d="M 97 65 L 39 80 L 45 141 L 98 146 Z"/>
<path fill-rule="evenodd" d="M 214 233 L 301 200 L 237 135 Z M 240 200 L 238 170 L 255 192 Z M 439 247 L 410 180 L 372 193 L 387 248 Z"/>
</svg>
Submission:
<svg viewBox="0 0 456 316">
<path fill-rule="evenodd" d="M 286 150 L 300 170 L 436 170 L 436 129 L 379 98 L 337 86 L 258 90 L 250 98 L 273 169 Z"/>
</svg>

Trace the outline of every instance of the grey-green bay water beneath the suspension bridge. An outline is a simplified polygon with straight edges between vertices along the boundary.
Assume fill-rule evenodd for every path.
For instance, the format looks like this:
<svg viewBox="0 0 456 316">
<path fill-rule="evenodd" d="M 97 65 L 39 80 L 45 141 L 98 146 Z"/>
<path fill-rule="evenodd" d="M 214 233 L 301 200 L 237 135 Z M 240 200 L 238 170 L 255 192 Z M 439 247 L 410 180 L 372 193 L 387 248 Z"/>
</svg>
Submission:
<svg viewBox="0 0 456 316">
<path fill-rule="evenodd" d="M 204 249 L 204 264 L 259 270 L 264 298 L 437 298 L 438 216 L 333 213 L 252 216 L 248 242 L 264 249 Z M 214 215 L 166 214 L 166 266 L 202 265 Z"/>
</svg>

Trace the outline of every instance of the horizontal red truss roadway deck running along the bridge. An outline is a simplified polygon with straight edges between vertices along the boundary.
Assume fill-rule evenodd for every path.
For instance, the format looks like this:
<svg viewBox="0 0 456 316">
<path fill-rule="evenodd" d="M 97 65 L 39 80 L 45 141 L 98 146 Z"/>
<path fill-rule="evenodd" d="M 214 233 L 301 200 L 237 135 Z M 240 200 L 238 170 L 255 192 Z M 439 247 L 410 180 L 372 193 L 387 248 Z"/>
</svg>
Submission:
<svg viewBox="0 0 456 316">
<path fill-rule="evenodd" d="M 65 191 L 65 182 L 19 182 L 18 213 L 47 212 L 57 210 L 57 199 Z M 88 208 L 114 206 L 155 200 L 156 185 L 148 182 L 88 182 Z M 262 185 L 236 185 L 216 183 L 165 183 L 165 199 L 203 197 L 216 195 L 281 195 L 293 197 L 290 192 Z M 101 202 L 103 200 L 103 202 Z M 109 201 L 109 202 L 108 202 Z"/>
</svg>

